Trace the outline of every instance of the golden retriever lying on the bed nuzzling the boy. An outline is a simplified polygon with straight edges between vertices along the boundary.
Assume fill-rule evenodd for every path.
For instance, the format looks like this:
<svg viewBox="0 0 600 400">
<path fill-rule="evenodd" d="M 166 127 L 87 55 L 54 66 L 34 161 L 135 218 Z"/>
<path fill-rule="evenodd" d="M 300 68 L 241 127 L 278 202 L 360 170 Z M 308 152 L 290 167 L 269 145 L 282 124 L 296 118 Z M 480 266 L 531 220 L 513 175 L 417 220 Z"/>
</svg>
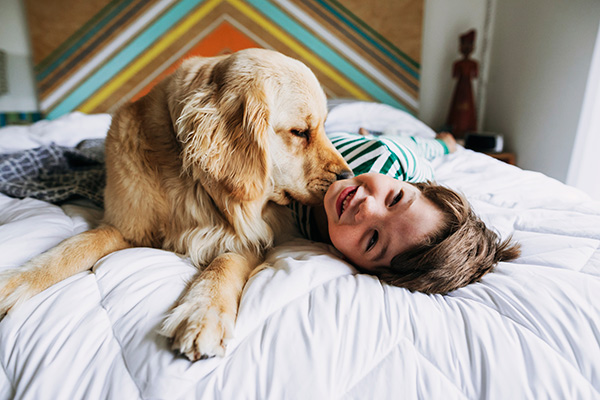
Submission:
<svg viewBox="0 0 600 400">
<path fill-rule="evenodd" d="M 351 176 L 326 114 L 314 74 L 280 53 L 184 61 L 113 116 L 103 223 L 3 272 L 0 316 L 111 252 L 163 248 L 202 272 L 161 332 L 190 360 L 223 355 L 248 276 L 290 228 L 284 205 Z"/>
</svg>

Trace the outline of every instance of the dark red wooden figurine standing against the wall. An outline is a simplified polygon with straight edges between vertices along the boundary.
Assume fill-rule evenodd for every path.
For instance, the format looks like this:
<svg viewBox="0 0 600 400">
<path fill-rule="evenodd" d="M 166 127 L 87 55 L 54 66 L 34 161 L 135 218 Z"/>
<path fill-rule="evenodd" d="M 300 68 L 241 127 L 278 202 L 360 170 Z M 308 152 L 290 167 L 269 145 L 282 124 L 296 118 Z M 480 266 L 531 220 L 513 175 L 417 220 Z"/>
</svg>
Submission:
<svg viewBox="0 0 600 400">
<path fill-rule="evenodd" d="M 477 61 L 469 59 L 474 44 L 474 29 L 460 36 L 460 52 L 463 59 L 456 61 L 452 68 L 452 76 L 458 81 L 452 96 L 447 128 L 457 139 L 463 138 L 466 132 L 477 130 L 477 116 L 471 79 L 477 78 L 479 67 Z"/>
</svg>

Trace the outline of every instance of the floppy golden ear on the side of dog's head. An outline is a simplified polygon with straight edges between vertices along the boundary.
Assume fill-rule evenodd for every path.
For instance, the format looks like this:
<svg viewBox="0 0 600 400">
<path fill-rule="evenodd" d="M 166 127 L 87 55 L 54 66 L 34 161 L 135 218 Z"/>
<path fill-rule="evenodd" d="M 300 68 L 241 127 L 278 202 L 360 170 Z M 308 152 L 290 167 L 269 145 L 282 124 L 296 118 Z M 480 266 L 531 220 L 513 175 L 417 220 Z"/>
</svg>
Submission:
<svg viewBox="0 0 600 400">
<path fill-rule="evenodd" d="M 198 91 L 177 120 L 184 169 L 195 178 L 208 174 L 238 201 L 260 198 L 269 173 L 268 108 L 262 91 L 246 89 Z"/>
</svg>

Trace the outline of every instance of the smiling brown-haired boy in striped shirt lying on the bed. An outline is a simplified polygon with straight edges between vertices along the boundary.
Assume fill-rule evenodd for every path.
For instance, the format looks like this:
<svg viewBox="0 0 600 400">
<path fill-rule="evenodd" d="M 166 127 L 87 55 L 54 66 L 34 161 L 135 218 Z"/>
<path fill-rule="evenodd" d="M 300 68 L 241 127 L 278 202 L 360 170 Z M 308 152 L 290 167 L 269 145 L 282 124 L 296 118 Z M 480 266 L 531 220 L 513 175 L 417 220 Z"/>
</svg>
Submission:
<svg viewBox="0 0 600 400">
<path fill-rule="evenodd" d="M 455 151 L 433 139 L 330 135 L 354 178 L 337 181 L 323 207 L 295 204 L 305 237 L 333 244 L 359 271 L 395 286 L 446 293 L 519 256 L 474 214 L 464 196 L 432 183 L 428 160 Z"/>
</svg>

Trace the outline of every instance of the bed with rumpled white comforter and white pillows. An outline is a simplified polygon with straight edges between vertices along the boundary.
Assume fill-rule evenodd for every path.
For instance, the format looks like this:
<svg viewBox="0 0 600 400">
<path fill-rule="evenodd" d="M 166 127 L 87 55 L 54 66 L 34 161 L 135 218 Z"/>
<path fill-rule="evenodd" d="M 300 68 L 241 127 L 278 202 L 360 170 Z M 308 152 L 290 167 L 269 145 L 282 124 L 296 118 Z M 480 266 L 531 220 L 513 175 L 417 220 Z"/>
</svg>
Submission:
<svg viewBox="0 0 600 400">
<path fill-rule="evenodd" d="M 0 129 L 2 153 L 101 139 L 107 114 Z M 328 130 L 431 136 L 376 103 L 333 107 Z M 600 398 L 600 203 L 464 148 L 434 160 L 522 255 L 481 282 L 425 295 L 358 274 L 304 239 L 244 288 L 224 358 L 189 362 L 157 333 L 195 273 L 150 248 L 106 256 L 0 322 L 0 399 Z M 0 270 L 95 225 L 102 210 L 0 195 Z"/>
</svg>

